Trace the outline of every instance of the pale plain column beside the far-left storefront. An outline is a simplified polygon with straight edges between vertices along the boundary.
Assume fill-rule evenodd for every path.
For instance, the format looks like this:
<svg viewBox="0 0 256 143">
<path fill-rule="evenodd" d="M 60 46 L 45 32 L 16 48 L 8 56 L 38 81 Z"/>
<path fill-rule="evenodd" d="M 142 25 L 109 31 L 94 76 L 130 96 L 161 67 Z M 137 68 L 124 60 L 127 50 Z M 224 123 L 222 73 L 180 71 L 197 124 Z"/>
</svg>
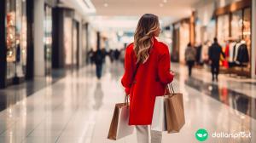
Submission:
<svg viewBox="0 0 256 143">
<path fill-rule="evenodd" d="M 34 76 L 45 75 L 44 63 L 44 0 L 34 1 Z"/>
</svg>

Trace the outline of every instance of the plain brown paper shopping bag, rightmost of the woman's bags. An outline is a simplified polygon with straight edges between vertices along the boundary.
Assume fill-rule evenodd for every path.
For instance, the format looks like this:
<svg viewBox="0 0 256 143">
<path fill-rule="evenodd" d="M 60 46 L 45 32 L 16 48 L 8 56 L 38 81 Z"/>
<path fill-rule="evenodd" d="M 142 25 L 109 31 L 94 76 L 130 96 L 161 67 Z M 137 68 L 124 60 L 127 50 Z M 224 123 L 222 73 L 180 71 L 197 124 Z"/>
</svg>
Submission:
<svg viewBox="0 0 256 143">
<path fill-rule="evenodd" d="M 170 85 L 168 85 L 171 91 Z M 177 133 L 185 124 L 183 94 L 175 93 L 172 88 L 172 94 L 168 94 L 165 100 L 166 107 L 166 126 L 168 133 Z"/>
</svg>

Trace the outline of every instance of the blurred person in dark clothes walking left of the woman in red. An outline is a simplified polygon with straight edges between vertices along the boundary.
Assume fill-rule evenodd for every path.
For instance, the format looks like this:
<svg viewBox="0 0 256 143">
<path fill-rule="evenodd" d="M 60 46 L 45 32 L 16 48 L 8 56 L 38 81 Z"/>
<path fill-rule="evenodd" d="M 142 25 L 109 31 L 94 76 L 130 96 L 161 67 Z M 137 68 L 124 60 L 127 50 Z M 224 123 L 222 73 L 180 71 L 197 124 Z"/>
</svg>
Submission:
<svg viewBox="0 0 256 143">
<path fill-rule="evenodd" d="M 102 65 L 105 59 L 105 53 L 102 49 L 97 49 L 93 55 L 94 62 L 96 64 L 96 77 L 100 79 L 102 77 Z"/>
</svg>

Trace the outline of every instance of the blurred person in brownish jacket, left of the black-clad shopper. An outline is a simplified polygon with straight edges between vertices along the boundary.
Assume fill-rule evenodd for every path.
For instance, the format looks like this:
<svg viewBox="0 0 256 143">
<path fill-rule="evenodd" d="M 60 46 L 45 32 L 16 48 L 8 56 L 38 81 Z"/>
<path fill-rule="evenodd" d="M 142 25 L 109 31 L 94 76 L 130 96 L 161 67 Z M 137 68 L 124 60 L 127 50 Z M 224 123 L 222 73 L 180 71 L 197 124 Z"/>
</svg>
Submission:
<svg viewBox="0 0 256 143">
<path fill-rule="evenodd" d="M 192 67 L 195 64 L 195 56 L 196 56 L 196 50 L 194 47 L 191 46 L 191 43 L 189 43 L 187 46 L 187 49 L 185 50 L 185 60 L 189 67 L 189 77 L 191 77 Z"/>
</svg>

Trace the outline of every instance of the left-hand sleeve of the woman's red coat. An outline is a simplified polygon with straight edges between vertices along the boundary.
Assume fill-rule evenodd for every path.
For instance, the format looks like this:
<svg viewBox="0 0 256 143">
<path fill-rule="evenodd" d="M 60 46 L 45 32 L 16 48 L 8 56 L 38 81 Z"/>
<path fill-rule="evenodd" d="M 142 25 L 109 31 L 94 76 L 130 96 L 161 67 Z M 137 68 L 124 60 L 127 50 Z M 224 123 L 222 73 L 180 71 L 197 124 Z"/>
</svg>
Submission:
<svg viewBox="0 0 256 143">
<path fill-rule="evenodd" d="M 131 78 L 134 71 L 134 67 L 132 65 L 132 55 L 131 55 L 132 51 L 128 47 L 125 50 L 125 73 L 121 79 L 121 83 L 125 87 L 126 94 L 130 94 L 131 83 L 132 83 Z"/>
</svg>

